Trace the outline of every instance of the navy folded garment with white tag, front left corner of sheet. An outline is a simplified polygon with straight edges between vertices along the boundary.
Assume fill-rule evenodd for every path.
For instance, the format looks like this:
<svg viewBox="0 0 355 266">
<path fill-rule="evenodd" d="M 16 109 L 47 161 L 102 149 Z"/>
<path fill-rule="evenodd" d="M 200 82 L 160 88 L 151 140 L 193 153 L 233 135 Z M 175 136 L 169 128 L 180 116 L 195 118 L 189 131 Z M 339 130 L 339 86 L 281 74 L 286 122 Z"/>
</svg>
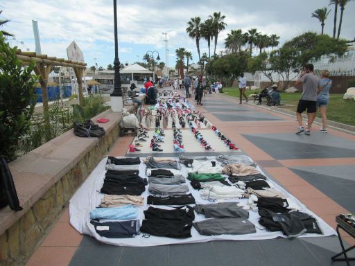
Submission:
<svg viewBox="0 0 355 266">
<path fill-rule="evenodd" d="M 139 235 L 139 220 L 122 222 L 96 222 L 90 221 L 94 225 L 96 233 L 104 238 L 134 238 Z"/>
</svg>

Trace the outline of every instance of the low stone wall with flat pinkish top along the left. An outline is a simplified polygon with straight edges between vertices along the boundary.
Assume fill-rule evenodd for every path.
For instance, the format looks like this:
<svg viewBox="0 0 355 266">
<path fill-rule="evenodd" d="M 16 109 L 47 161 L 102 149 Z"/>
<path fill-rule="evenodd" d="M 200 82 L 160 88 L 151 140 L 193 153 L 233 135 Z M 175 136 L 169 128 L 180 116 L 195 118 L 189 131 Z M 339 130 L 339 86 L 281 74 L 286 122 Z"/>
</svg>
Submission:
<svg viewBox="0 0 355 266">
<path fill-rule="evenodd" d="M 119 137 L 121 115 L 107 110 L 92 118 L 100 139 L 80 138 L 73 130 L 12 161 L 9 166 L 22 211 L 0 210 L 0 265 L 24 265 L 62 209 Z"/>
</svg>

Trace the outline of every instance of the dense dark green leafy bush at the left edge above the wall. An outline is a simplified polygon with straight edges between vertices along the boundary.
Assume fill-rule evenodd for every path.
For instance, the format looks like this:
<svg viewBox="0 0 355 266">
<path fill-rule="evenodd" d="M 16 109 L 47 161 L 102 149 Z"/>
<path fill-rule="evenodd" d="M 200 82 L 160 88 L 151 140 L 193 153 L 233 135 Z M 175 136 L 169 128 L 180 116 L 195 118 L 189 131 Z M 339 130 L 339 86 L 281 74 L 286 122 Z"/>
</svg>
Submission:
<svg viewBox="0 0 355 266">
<path fill-rule="evenodd" d="M 10 48 L 0 33 L 0 154 L 7 161 L 16 158 L 19 137 L 28 132 L 36 104 L 32 74 L 35 62 L 22 67 L 15 48 Z"/>
</svg>

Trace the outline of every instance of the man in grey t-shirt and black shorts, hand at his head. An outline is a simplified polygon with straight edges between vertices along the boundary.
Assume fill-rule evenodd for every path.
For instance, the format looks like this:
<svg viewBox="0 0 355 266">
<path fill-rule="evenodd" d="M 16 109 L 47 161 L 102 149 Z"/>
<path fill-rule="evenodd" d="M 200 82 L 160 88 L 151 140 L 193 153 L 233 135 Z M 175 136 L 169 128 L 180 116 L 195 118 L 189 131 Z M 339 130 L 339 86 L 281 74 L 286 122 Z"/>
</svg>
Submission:
<svg viewBox="0 0 355 266">
<path fill-rule="evenodd" d="M 313 64 L 305 64 L 302 69 L 301 78 L 297 80 L 296 85 L 302 83 L 302 96 L 297 106 L 297 121 L 300 125 L 296 134 L 304 132 L 307 136 L 311 135 L 311 126 L 317 111 L 317 91 L 320 90 L 320 78 L 313 74 Z M 308 123 L 307 129 L 304 130 L 302 123 L 302 112 L 307 109 Z"/>
</svg>

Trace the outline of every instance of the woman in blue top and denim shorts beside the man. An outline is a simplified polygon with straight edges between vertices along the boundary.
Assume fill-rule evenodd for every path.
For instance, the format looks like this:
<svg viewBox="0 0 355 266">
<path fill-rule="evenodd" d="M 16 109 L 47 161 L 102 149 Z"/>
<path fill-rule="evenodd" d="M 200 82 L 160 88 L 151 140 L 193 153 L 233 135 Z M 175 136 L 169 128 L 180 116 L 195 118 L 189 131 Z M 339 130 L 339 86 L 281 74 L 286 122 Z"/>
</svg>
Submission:
<svg viewBox="0 0 355 266">
<path fill-rule="evenodd" d="M 329 71 L 322 71 L 320 80 L 320 91 L 317 96 L 317 107 L 319 107 L 322 115 L 322 128 L 319 132 L 327 133 L 327 106 L 329 102 L 329 89 L 331 88 L 332 80 L 329 79 Z"/>
</svg>

